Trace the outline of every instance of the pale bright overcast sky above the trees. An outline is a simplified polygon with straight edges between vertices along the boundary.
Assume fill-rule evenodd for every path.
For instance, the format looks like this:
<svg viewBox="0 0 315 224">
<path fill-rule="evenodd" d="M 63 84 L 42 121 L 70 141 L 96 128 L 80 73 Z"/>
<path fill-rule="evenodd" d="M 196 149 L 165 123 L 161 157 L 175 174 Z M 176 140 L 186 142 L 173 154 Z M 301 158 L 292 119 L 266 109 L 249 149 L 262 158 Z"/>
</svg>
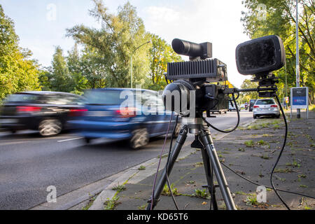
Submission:
<svg viewBox="0 0 315 224">
<path fill-rule="evenodd" d="M 126 0 L 104 0 L 112 13 Z M 74 41 L 66 38 L 66 28 L 83 24 L 99 27 L 88 10 L 90 0 L 1 0 L 4 13 L 15 22 L 20 46 L 29 48 L 34 58 L 49 66 L 55 46 L 65 55 Z M 228 64 L 228 79 L 240 87 L 246 76 L 237 72 L 235 48 L 248 37 L 241 25 L 241 0 L 130 0 L 146 30 L 172 43 L 182 38 L 195 43 L 213 43 L 213 56 Z M 54 13 L 55 12 L 55 13 Z M 187 58 L 188 59 L 188 58 Z"/>
</svg>

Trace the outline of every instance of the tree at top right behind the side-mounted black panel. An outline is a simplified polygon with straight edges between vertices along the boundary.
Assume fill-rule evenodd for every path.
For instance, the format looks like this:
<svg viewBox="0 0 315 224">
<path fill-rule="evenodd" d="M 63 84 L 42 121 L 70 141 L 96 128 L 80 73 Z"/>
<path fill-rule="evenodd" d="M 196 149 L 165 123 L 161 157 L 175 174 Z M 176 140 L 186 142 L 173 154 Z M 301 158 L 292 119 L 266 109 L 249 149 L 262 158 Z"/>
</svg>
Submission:
<svg viewBox="0 0 315 224">
<path fill-rule="evenodd" d="M 286 49 L 286 67 L 276 71 L 279 77 L 280 95 L 286 83 L 288 87 L 296 86 L 295 78 L 295 1 L 294 0 L 246 0 L 243 2 L 248 13 L 242 13 L 241 21 L 244 32 L 251 38 L 276 34 L 281 37 Z M 261 20 L 258 16 L 259 4 L 265 4 L 266 16 Z M 299 36 L 300 36 L 300 85 L 309 87 L 309 98 L 315 101 L 315 41 L 314 41 L 314 0 L 300 0 Z M 261 8 L 260 8 L 261 9 Z M 282 89 L 281 89 L 282 88 Z"/>
</svg>

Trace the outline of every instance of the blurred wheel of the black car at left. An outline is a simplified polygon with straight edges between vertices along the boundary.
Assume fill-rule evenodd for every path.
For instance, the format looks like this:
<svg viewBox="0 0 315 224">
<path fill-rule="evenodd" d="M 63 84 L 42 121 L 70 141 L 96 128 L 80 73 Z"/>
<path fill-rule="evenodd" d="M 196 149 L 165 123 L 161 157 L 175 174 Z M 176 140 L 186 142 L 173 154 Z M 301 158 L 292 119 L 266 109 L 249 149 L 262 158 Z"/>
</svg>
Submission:
<svg viewBox="0 0 315 224">
<path fill-rule="evenodd" d="M 42 120 L 38 125 L 38 131 L 42 137 L 51 137 L 62 131 L 62 123 L 58 119 Z"/>
</svg>

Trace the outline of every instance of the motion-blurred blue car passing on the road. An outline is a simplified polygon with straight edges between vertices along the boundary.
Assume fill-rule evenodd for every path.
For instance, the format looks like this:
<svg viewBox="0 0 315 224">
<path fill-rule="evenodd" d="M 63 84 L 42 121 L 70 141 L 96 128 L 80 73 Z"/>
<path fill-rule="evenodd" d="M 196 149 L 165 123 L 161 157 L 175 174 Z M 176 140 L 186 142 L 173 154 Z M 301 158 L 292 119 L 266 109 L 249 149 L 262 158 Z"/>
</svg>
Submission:
<svg viewBox="0 0 315 224">
<path fill-rule="evenodd" d="M 131 148 L 141 148 L 151 137 L 167 133 L 172 111 L 165 111 L 156 91 L 104 88 L 87 90 L 84 97 L 85 113 L 70 123 L 87 143 L 97 138 L 127 139 Z M 175 124 L 176 115 L 169 133 Z M 180 128 L 176 126 L 174 137 Z"/>
</svg>

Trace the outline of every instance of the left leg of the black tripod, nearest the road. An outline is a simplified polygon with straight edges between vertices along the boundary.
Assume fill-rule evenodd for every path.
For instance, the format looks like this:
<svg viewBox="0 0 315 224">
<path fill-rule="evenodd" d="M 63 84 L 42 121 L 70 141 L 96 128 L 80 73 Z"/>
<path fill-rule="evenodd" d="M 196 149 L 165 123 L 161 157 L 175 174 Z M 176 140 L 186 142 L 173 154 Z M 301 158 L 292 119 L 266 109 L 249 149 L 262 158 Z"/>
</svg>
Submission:
<svg viewBox="0 0 315 224">
<path fill-rule="evenodd" d="M 167 175 L 169 175 L 172 171 L 172 168 L 174 166 L 174 163 L 176 162 L 177 157 L 179 156 L 179 153 L 181 152 L 181 148 L 183 147 L 183 144 L 186 141 L 188 134 L 188 128 L 185 125 L 181 132 L 179 132 L 179 137 L 176 139 L 176 143 L 173 146 L 172 153 L 169 158 L 169 165 L 165 165 L 165 169 L 163 170 L 160 180 L 158 181 L 158 184 L 155 187 L 154 193 L 153 193 L 153 206 L 152 209 L 158 204 L 158 200 L 160 198 L 160 195 L 162 193 L 162 190 L 165 186 L 165 183 L 167 181 Z M 167 172 L 167 175 L 166 175 Z M 147 210 L 151 210 L 151 203 L 152 203 L 152 198 L 148 201 L 148 207 L 146 207 Z"/>
</svg>

